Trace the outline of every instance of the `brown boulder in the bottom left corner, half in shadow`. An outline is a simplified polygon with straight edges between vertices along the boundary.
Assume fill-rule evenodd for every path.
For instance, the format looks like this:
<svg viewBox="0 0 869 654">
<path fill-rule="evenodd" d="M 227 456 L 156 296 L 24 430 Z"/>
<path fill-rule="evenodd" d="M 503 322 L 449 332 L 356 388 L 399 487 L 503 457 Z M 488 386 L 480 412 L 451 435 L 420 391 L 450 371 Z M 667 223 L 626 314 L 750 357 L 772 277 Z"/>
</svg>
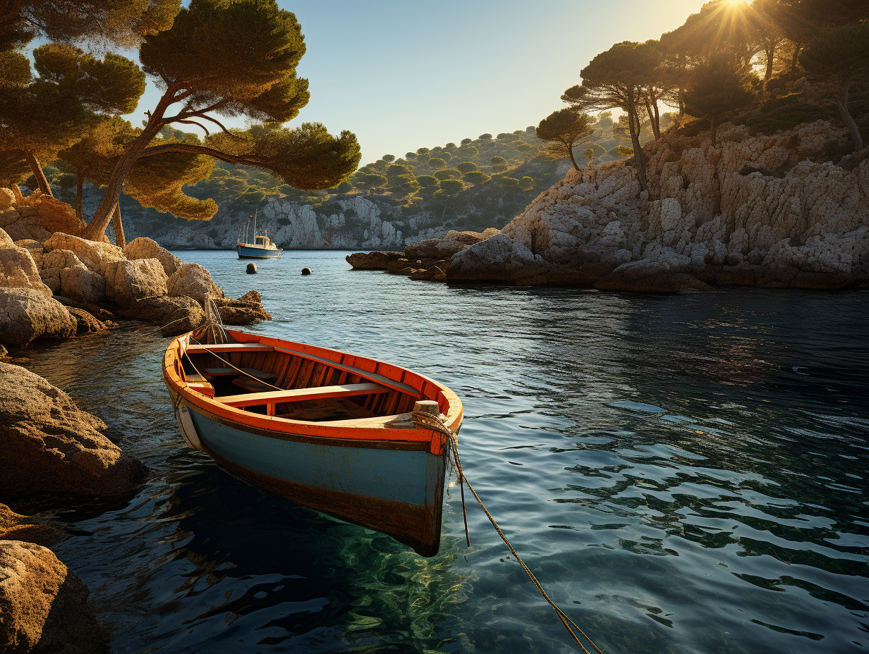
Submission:
<svg viewBox="0 0 869 654">
<path fill-rule="evenodd" d="M 108 651 L 109 637 L 87 600 L 87 586 L 48 548 L 0 540 L 0 651 Z"/>
</svg>

